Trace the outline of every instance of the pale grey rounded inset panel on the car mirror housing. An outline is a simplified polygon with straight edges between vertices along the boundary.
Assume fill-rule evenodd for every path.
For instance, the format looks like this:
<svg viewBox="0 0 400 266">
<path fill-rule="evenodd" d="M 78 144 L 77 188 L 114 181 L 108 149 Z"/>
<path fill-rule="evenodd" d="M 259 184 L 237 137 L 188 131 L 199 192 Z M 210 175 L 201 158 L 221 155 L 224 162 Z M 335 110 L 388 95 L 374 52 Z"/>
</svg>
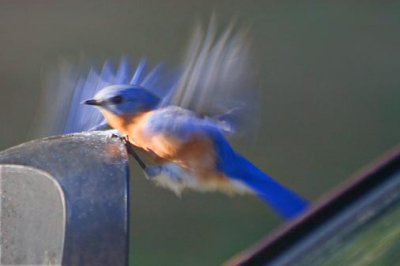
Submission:
<svg viewBox="0 0 400 266">
<path fill-rule="evenodd" d="M 0 265 L 60 265 L 64 195 L 46 172 L 0 165 Z"/>
</svg>

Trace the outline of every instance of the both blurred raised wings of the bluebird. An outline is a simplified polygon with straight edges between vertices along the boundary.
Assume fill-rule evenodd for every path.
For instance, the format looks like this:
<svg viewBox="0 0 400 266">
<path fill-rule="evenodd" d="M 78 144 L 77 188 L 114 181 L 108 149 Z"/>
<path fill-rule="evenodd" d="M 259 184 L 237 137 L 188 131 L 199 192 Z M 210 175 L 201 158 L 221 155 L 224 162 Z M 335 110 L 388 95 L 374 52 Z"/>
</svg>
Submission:
<svg viewBox="0 0 400 266">
<path fill-rule="evenodd" d="M 142 59 L 135 71 L 127 58 L 119 66 L 106 62 L 101 70 L 90 64 L 61 62 L 49 72 L 42 93 L 37 123 L 40 136 L 72 133 L 104 124 L 101 113 L 81 104 L 100 89 L 134 84 L 152 91 L 161 107 L 177 105 L 225 124 L 225 131 L 246 131 L 255 125 L 256 86 L 250 67 L 249 41 L 243 30 L 231 24 L 217 38 L 212 19 L 207 32 L 198 25 L 184 63 L 178 71 L 162 64 L 148 68 Z"/>
</svg>

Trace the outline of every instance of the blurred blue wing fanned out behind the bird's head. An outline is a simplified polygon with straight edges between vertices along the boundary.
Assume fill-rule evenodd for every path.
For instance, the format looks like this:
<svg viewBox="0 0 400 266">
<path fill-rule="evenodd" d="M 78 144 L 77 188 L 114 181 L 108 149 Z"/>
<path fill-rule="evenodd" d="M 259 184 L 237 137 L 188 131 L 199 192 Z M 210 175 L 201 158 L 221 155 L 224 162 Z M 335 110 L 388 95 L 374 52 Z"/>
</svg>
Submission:
<svg viewBox="0 0 400 266">
<path fill-rule="evenodd" d="M 109 85 L 140 85 L 163 97 L 172 86 L 163 70 L 162 65 L 148 69 L 144 59 L 138 63 L 135 71 L 126 58 L 120 61 L 118 67 L 109 61 L 105 62 L 100 71 L 87 64 L 62 62 L 58 69 L 47 75 L 36 131 L 40 136 L 72 133 L 90 130 L 105 123 L 97 108 L 81 103 Z"/>
</svg>

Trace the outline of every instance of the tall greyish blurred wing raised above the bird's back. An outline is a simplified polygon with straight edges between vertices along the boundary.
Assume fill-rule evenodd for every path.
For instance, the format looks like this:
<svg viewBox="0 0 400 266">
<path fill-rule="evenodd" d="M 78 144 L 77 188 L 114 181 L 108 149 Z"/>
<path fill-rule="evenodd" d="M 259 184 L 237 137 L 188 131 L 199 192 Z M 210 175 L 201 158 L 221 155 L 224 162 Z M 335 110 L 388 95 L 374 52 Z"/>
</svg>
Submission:
<svg viewBox="0 0 400 266">
<path fill-rule="evenodd" d="M 254 120 L 256 86 L 249 42 L 243 31 L 233 34 L 233 25 L 216 36 L 213 20 L 207 33 L 195 28 L 181 76 L 162 105 L 181 106 L 238 127 Z"/>
</svg>

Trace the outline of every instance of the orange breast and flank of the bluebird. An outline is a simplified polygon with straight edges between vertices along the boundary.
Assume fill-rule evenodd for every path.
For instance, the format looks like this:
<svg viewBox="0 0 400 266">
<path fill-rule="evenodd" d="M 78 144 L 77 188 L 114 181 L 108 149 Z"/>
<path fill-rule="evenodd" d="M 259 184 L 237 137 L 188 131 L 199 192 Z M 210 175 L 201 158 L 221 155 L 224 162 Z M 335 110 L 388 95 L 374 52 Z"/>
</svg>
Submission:
<svg viewBox="0 0 400 266">
<path fill-rule="evenodd" d="M 216 169 L 217 154 L 209 136 L 193 134 L 189 139 L 182 140 L 177 136 L 157 132 L 149 135 L 145 127 L 152 111 L 135 116 L 117 116 L 103 111 L 103 115 L 112 128 L 128 135 L 133 145 L 155 154 L 162 161 L 180 165 L 204 183 L 221 185 L 229 183 L 228 179 Z"/>
</svg>

